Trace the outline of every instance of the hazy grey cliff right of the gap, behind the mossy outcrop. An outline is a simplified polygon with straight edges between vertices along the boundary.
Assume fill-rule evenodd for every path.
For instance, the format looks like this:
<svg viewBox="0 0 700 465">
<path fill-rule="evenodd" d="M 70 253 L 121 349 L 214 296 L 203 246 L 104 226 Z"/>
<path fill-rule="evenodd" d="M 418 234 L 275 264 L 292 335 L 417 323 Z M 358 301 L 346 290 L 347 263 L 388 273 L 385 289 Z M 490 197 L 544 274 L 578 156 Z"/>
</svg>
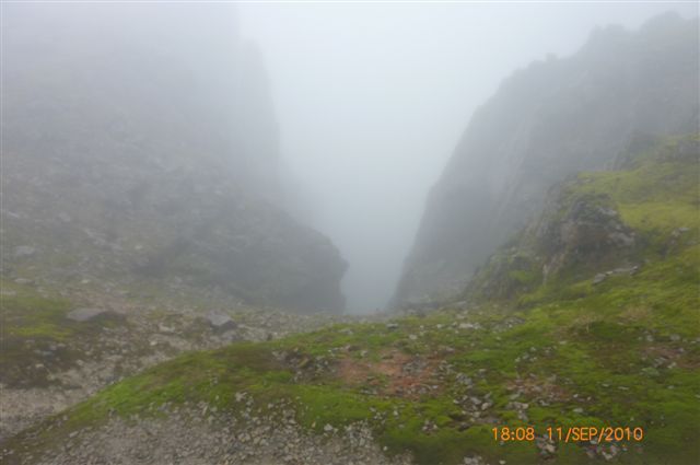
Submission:
<svg viewBox="0 0 700 465">
<path fill-rule="evenodd" d="M 673 14 L 634 33 L 597 30 L 572 57 L 505 80 L 431 191 L 393 305 L 460 293 L 565 176 L 614 166 L 639 135 L 696 130 L 697 36 L 697 19 Z"/>
</svg>

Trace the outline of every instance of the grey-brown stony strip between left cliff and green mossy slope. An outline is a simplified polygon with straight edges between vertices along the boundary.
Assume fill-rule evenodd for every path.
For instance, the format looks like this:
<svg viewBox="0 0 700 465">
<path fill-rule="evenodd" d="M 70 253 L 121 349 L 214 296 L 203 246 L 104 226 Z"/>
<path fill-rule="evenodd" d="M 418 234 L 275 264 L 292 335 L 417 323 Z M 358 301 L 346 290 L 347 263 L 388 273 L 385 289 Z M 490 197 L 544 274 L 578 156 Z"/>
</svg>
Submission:
<svg viewBox="0 0 700 465">
<path fill-rule="evenodd" d="M 125 313 L 125 325 L 105 329 L 98 345 L 85 348 L 74 367 L 56 370 L 51 367 L 51 353 L 47 353 L 44 363 L 26 367 L 26 370 L 27 376 L 31 371 L 49 371 L 48 385 L 10 387 L 0 383 L 0 444 L 103 387 L 179 353 L 214 349 L 236 340 L 275 339 L 361 319 L 254 309 L 219 310 L 217 314 L 230 317 L 231 324 L 217 328 L 208 323 L 206 313 L 130 311 Z M 32 350 L 31 347 L 27 350 Z"/>
</svg>

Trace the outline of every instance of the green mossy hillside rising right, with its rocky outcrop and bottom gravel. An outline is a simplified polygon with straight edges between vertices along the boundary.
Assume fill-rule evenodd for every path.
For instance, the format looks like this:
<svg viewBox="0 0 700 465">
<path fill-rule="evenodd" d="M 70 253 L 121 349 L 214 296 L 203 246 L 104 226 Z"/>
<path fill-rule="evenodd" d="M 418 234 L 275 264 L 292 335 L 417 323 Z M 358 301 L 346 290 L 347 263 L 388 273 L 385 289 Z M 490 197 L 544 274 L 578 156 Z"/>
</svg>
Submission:
<svg viewBox="0 0 700 465">
<path fill-rule="evenodd" d="M 0 461 L 697 464 L 699 142 L 552 190 L 468 305 L 190 353 L 24 431 Z"/>
</svg>

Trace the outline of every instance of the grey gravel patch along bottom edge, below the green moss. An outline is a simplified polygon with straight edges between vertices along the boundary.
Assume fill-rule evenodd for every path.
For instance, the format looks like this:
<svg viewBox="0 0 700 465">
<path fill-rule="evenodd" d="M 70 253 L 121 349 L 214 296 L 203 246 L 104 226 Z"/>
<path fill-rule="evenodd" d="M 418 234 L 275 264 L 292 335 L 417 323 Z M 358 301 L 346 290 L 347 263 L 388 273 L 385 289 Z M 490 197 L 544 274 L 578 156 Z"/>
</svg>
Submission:
<svg viewBox="0 0 700 465">
<path fill-rule="evenodd" d="M 245 399 L 242 399 L 245 402 Z M 304 432 L 291 408 L 277 418 L 245 420 L 219 415 L 206 405 L 166 411 L 167 419 L 113 417 L 98 429 L 77 432 L 50 454 L 23 456 L 18 463 L 72 464 L 410 464 L 387 457 L 361 423 L 342 430 L 327 426 L 320 435 Z M 215 408 L 213 408 L 215 410 Z M 3 460 L 12 463 L 12 456 Z M 36 462 L 34 462 L 37 460 Z"/>
</svg>

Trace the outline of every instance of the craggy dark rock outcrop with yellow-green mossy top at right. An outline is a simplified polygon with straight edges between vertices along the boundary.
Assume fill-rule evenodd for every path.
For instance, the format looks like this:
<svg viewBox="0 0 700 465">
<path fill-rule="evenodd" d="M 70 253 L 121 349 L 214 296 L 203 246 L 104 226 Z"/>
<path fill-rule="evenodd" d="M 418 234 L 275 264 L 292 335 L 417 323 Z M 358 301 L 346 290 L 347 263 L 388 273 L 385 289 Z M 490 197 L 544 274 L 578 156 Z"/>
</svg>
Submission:
<svg viewBox="0 0 700 465">
<path fill-rule="evenodd" d="M 581 173 L 551 188 L 541 213 L 477 268 L 462 298 L 499 301 L 547 284 L 597 286 L 697 244 L 693 218 L 684 210 L 691 211 L 698 197 L 700 139 L 682 137 L 631 153 L 618 170 Z M 667 218 L 688 221 L 673 230 L 654 223 Z"/>
</svg>

